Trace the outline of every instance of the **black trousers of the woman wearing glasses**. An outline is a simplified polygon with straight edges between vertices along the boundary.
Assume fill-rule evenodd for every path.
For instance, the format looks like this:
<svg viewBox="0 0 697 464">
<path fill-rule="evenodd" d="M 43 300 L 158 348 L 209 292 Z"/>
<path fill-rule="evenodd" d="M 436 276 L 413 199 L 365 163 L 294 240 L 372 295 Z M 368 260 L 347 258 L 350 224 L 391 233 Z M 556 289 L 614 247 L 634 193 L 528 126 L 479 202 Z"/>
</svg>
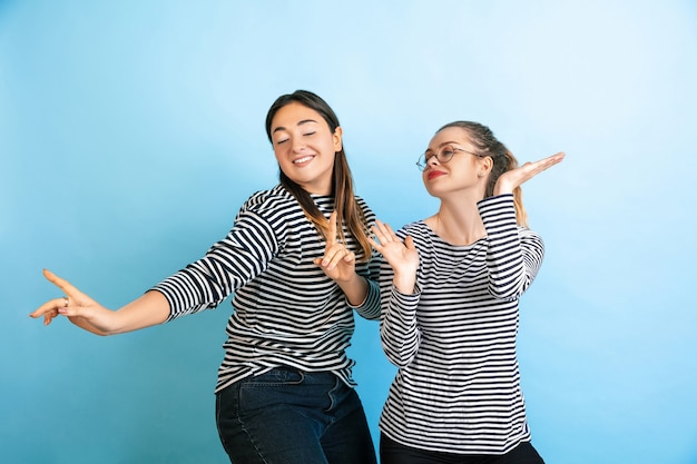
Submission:
<svg viewBox="0 0 697 464">
<path fill-rule="evenodd" d="M 385 434 L 380 434 L 380 462 L 381 464 L 544 464 L 530 442 L 521 442 L 502 455 L 455 454 L 405 446 Z"/>
</svg>

